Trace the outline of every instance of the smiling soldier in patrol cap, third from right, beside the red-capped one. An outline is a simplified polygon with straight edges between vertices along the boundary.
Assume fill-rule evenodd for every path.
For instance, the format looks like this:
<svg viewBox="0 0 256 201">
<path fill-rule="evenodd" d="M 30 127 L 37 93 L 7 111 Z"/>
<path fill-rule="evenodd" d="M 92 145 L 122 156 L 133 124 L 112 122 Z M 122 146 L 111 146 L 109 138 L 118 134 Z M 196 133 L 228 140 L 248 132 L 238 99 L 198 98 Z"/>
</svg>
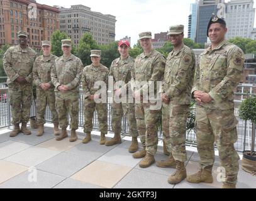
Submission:
<svg viewBox="0 0 256 201">
<path fill-rule="evenodd" d="M 148 100 L 148 95 L 158 95 L 156 85 L 157 81 L 164 79 L 165 57 L 152 48 L 151 32 L 143 32 L 139 36 L 144 52 L 135 59 L 131 71 L 131 84 L 136 82 L 135 117 L 143 149 L 134 153 L 133 157 L 144 157 L 139 165 L 146 168 L 155 162 L 154 155 L 158 144 L 157 122 L 161 115 L 161 106 L 155 107 L 156 105 Z M 153 94 L 148 93 L 150 89 L 154 89 Z"/>
</svg>

